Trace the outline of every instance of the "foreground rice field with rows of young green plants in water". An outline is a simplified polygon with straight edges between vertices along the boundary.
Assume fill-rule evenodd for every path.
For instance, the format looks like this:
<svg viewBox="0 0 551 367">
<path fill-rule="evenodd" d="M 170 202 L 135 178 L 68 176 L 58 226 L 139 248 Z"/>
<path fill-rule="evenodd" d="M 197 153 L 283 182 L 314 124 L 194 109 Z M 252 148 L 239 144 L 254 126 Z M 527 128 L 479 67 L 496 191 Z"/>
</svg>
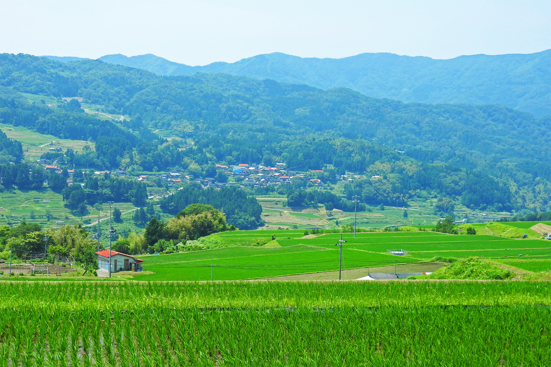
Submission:
<svg viewBox="0 0 551 367">
<path fill-rule="evenodd" d="M 550 365 L 543 282 L 0 284 L 0 366 Z"/>
</svg>

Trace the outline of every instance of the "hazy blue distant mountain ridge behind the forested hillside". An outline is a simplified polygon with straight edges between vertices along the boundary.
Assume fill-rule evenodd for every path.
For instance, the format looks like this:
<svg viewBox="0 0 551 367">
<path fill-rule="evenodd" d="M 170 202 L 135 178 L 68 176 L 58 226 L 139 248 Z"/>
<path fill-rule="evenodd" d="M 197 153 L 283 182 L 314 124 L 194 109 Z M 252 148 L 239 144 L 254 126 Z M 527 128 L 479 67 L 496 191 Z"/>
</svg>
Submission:
<svg viewBox="0 0 551 367">
<path fill-rule="evenodd" d="M 45 57 L 61 62 L 82 59 Z M 99 59 L 158 75 L 226 73 L 321 89 L 348 87 L 366 96 L 404 102 L 498 104 L 538 117 L 551 113 L 551 50 L 445 60 L 393 53 L 361 53 L 340 59 L 302 58 L 274 52 L 234 63 L 195 67 L 150 53 L 132 57 L 111 54 Z"/>
</svg>

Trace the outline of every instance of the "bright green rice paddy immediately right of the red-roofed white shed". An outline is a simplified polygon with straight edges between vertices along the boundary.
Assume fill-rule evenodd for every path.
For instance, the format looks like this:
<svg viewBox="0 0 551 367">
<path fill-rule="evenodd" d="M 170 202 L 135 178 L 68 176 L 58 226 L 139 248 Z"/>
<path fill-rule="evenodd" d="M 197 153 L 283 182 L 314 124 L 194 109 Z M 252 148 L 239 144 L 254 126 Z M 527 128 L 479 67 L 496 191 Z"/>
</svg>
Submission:
<svg viewBox="0 0 551 367">
<path fill-rule="evenodd" d="M 236 280 L 278 275 L 334 271 L 339 267 L 336 246 L 325 249 L 310 246 L 285 248 L 230 247 L 169 255 L 141 256 L 144 270 L 155 272 L 137 275 L 136 280 L 199 281 Z M 395 264 L 395 256 L 343 249 L 342 269 Z M 398 259 L 398 264 L 418 262 Z"/>
</svg>

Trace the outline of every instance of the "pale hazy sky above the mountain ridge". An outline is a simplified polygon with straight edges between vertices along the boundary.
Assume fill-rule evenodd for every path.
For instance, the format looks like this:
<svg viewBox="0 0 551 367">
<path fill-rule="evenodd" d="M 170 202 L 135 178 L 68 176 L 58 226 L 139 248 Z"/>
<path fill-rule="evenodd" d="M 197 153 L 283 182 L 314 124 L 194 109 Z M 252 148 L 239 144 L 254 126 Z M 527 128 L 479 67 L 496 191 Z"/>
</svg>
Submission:
<svg viewBox="0 0 551 367">
<path fill-rule="evenodd" d="M 153 53 L 188 65 L 261 53 L 452 58 L 551 48 L 551 1 L 0 0 L 0 53 Z"/>
</svg>

